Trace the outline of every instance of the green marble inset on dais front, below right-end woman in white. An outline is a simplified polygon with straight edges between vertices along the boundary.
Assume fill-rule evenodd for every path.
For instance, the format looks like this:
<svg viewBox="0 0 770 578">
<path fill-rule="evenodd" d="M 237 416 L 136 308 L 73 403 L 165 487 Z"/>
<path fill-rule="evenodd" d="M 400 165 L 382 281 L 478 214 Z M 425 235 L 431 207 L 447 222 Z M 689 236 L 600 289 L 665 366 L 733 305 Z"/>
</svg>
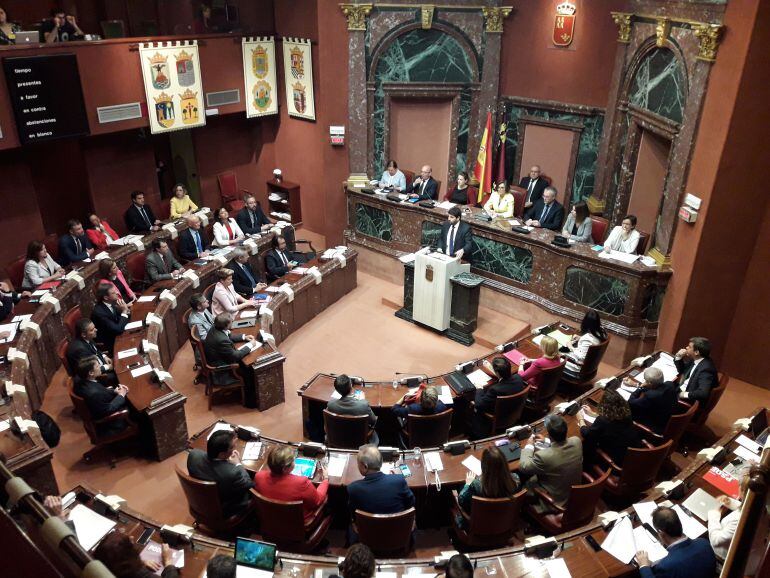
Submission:
<svg viewBox="0 0 770 578">
<path fill-rule="evenodd" d="M 628 299 L 628 283 L 580 267 L 568 267 L 564 276 L 564 297 L 597 311 L 620 315 Z"/>
</svg>

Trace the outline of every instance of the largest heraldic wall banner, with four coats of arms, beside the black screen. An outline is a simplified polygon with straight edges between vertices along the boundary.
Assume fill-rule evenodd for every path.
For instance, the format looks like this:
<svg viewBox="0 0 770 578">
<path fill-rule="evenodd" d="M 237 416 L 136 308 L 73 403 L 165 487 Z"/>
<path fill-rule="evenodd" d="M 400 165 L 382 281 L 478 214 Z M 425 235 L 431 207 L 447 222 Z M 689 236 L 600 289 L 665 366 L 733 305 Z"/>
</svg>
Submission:
<svg viewBox="0 0 770 578">
<path fill-rule="evenodd" d="M 139 46 L 151 132 L 205 126 L 197 43 L 193 40 L 155 44 Z"/>
</svg>

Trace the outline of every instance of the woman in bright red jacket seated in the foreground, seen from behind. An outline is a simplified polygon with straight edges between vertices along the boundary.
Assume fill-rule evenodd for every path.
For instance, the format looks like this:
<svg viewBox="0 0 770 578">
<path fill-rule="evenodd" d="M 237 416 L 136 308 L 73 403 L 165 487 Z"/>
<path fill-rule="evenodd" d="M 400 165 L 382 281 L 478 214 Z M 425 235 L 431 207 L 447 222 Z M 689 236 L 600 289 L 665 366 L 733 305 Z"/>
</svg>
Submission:
<svg viewBox="0 0 770 578">
<path fill-rule="evenodd" d="M 329 480 L 324 473 L 324 481 L 318 487 L 305 476 L 291 473 L 294 469 L 294 449 L 291 446 L 276 446 L 267 456 L 267 470 L 254 476 L 254 489 L 266 498 L 295 502 L 302 500 L 305 524 L 312 522 L 326 503 Z"/>
</svg>

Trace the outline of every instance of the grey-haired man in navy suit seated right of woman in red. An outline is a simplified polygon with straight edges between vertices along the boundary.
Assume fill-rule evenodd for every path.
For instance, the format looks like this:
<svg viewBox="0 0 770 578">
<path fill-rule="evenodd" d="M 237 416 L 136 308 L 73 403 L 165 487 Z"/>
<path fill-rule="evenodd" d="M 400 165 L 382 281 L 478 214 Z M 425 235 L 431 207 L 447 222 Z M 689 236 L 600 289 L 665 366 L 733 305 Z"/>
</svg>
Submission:
<svg viewBox="0 0 770 578">
<path fill-rule="evenodd" d="M 358 471 L 364 477 L 348 486 L 350 511 L 396 514 L 414 506 L 414 494 L 399 474 L 383 474 L 382 455 L 373 445 L 358 450 Z"/>
</svg>

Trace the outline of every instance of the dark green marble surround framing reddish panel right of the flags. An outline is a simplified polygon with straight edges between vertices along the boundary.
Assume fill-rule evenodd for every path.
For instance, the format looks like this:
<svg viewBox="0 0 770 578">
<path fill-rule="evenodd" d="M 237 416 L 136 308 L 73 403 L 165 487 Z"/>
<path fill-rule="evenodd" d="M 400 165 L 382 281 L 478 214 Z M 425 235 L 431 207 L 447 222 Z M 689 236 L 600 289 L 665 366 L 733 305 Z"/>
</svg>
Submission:
<svg viewBox="0 0 770 578">
<path fill-rule="evenodd" d="M 522 106 L 512 103 L 506 104 L 506 174 L 511 181 L 518 184 L 519 176 L 516 173 L 516 152 L 519 147 L 518 121 L 521 116 L 542 118 L 543 120 L 562 121 L 573 124 L 583 124 L 583 131 L 578 144 L 577 162 L 575 174 L 572 179 L 572 202 L 584 200 L 594 192 L 594 175 L 596 173 L 596 161 L 599 156 L 599 144 L 602 138 L 604 125 L 603 114 L 574 114 L 556 111 L 550 108 L 537 106 Z M 547 170 L 546 170 L 547 172 Z"/>
</svg>

